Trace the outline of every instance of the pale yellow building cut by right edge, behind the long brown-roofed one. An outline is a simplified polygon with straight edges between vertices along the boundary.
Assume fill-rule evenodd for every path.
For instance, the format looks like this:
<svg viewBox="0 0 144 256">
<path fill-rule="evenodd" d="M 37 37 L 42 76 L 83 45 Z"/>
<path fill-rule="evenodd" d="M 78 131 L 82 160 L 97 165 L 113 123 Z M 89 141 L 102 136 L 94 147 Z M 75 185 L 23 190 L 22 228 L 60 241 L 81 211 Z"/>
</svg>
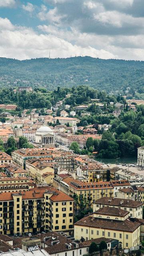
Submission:
<svg viewBox="0 0 144 256">
<path fill-rule="evenodd" d="M 144 203 L 144 187 L 131 186 L 131 188 L 119 189 L 118 198 L 132 199 Z"/>
</svg>

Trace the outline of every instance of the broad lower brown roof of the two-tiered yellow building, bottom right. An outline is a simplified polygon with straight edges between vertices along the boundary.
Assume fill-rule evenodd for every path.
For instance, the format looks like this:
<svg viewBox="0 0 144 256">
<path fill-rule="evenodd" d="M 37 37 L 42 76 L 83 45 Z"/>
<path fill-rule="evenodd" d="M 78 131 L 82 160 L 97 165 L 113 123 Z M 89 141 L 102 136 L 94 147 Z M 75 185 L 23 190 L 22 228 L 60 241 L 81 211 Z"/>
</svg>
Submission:
<svg viewBox="0 0 144 256">
<path fill-rule="evenodd" d="M 88 226 L 94 228 L 105 228 L 108 230 L 120 230 L 120 231 L 128 231 L 134 232 L 139 226 L 140 223 L 134 220 L 131 221 L 130 218 L 121 221 L 121 220 L 110 220 L 110 219 L 102 219 L 102 218 L 94 218 L 92 221 L 92 217 L 86 216 L 81 220 L 78 220 L 75 226 Z"/>
</svg>

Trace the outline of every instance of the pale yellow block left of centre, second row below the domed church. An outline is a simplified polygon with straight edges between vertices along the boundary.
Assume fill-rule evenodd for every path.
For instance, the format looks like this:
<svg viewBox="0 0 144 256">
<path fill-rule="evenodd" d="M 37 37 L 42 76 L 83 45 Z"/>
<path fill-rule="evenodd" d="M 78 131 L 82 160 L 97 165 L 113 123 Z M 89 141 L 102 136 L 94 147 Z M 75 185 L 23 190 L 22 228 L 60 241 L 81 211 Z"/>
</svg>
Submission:
<svg viewBox="0 0 144 256">
<path fill-rule="evenodd" d="M 28 175 L 32 177 L 37 184 L 44 183 L 46 182 L 46 180 L 44 179 L 44 177 L 46 176 L 44 176 L 43 174 L 45 173 L 54 174 L 54 163 L 41 161 L 39 159 L 27 160 L 26 171 L 28 172 Z M 51 182 L 52 180 L 50 180 L 50 183 Z"/>
</svg>

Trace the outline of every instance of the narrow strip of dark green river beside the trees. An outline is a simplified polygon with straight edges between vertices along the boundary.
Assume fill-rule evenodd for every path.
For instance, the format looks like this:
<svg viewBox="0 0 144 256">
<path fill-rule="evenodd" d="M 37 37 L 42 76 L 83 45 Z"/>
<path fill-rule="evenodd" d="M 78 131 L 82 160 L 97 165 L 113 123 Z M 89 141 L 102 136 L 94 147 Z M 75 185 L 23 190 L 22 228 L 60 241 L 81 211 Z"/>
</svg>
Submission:
<svg viewBox="0 0 144 256">
<path fill-rule="evenodd" d="M 118 163 L 121 163 L 121 164 L 131 164 L 131 163 L 137 163 L 137 157 L 133 157 L 133 158 L 117 158 L 117 159 L 114 159 L 114 158 L 94 158 L 95 160 L 99 161 L 99 162 L 102 162 L 102 163 L 105 163 L 105 164 L 118 164 Z"/>
</svg>

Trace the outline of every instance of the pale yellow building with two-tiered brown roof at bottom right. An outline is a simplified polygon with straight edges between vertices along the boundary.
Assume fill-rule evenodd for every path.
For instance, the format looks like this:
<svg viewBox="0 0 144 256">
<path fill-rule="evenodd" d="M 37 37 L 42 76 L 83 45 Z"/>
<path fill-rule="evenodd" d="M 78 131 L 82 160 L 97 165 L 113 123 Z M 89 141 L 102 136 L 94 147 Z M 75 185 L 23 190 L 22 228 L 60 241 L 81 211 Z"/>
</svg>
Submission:
<svg viewBox="0 0 144 256">
<path fill-rule="evenodd" d="M 118 208 L 100 208 L 74 224 L 74 238 L 90 240 L 104 237 L 119 240 L 122 248 L 138 246 L 141 224 L 135 218 L 129 218 L 128 214 L 128 211 Z"/>
</svg>

